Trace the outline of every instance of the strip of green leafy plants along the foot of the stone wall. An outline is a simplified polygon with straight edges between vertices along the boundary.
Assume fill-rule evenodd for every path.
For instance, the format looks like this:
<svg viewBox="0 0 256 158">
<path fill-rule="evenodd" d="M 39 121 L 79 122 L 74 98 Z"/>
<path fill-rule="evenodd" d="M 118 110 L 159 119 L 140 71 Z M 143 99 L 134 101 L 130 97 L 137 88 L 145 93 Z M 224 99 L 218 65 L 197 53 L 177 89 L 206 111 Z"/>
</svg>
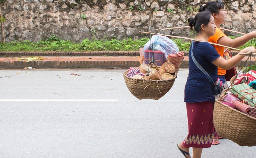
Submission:
<svg viewBox="0 0 256 158">
<path fill-rule="evenodd" d="M 192 32 L 190 32 L 191 34 Z M 191 34 L 192 35 L 192 34 Z M 229 36 L 232 39 L 236 38 Z M 127 37 L 123 40 L 108 39 L 104 40 L 89 40 L 84 39 L 82 42 L 74 43 L 69 40 L 62 40 L 56 35 L 52 35 L 45 41 L 30 42 L 23 40 L 22 42 L 12 41 L 6 44 L 6 46 L 0 44 L 0 51 L 138 51 L 142 48 L 149 38 L 141 38 L 139 40 L 133 40 L 131 37 Z M 189 51 L 191 41 L 185 41 L 183 39 L 172 39 L 176 43 L 179 50 Z M 251 41 L 247 42 L 239 49 L 251 46 Z M 254 41 L 252 46 L 255 46 Z"/>
</svg>

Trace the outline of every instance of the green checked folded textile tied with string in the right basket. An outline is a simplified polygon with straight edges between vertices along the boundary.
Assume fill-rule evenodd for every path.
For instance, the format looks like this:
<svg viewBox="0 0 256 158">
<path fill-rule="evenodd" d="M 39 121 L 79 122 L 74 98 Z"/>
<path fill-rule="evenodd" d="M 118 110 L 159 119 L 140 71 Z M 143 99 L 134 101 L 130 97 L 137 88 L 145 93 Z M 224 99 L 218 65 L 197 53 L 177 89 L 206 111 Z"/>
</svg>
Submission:
<svg viewBox="0 0 256 158">
<path fill-rule="evenodd" d="M 256 107 L 256 90 L 248 86 L 245 83 L 234 85 L 230 90 L 235 94 L 239 99 L 243 100 L 244 103 L 248 104 L 251 107 Z"/>
</svg>

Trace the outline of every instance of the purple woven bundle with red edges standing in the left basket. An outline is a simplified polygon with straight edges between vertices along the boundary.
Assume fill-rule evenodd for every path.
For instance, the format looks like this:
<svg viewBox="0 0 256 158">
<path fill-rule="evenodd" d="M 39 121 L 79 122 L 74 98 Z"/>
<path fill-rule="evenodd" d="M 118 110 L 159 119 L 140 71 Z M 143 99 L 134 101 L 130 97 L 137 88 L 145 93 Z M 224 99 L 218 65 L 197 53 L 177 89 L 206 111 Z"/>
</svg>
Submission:
<svg viewBox="0 0 256 158">
<path fill-rule="evenodd" d="M 149 62 L 152 60 L 153 51 L 152 50 L 145 50 L 144 52 L 144 63 L 149 64 Z M 155 64 L 158 66 L 161 66 L 164 64 L 164 53 L 162 51 L 154 50 L 154 58 Z"/>
</svg>

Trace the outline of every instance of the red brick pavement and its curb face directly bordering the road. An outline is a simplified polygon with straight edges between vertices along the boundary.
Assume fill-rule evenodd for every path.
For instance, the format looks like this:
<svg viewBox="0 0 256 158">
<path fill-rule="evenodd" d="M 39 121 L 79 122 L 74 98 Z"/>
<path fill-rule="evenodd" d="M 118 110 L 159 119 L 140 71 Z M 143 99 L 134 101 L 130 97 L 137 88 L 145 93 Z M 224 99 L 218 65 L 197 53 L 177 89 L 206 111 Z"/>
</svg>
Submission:
<svg viewBox="0 0 256 158">
<path fill-rule="evenodd" d="M 43 60 L 27 62 L 14 57 L 0 58 L 0 68 L 23 69 L 32 68 L 129 68 L 140 65 L 138 56 L 60 56 L 43 57 Z M 244 66 L 246 59 L 243 59 L 238 66 Z M 256 65 L 253 59 L 252 64 Z M 181 63 L 181 68 L 188 68 L 188 56 Z"/>
</svg>

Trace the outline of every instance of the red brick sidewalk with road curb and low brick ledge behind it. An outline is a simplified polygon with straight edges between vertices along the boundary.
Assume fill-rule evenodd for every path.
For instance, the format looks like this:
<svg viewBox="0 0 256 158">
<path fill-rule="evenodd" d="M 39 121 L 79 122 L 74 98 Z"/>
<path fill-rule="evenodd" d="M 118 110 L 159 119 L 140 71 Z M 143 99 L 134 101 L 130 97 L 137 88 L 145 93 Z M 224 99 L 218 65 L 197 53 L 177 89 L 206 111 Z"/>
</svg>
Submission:
<svg viewBox="0 0 256 158">
<path fill-rule="evenodd" d="M 181 68 L 188 68 L 188 52 Z M 232 52 L 234 55 L 237 52 Z M 27 62 L 14 57 L 42 56 L 43 60 Z M 0 68 L 129 68 L 139 66 L 139 51 L 91 51 L 91 52 L 0 52 Z M 243 66 L 244 59 L 238 66 Z M 256 61 L 252 61 L 256 65 Z"/>
</svg>

